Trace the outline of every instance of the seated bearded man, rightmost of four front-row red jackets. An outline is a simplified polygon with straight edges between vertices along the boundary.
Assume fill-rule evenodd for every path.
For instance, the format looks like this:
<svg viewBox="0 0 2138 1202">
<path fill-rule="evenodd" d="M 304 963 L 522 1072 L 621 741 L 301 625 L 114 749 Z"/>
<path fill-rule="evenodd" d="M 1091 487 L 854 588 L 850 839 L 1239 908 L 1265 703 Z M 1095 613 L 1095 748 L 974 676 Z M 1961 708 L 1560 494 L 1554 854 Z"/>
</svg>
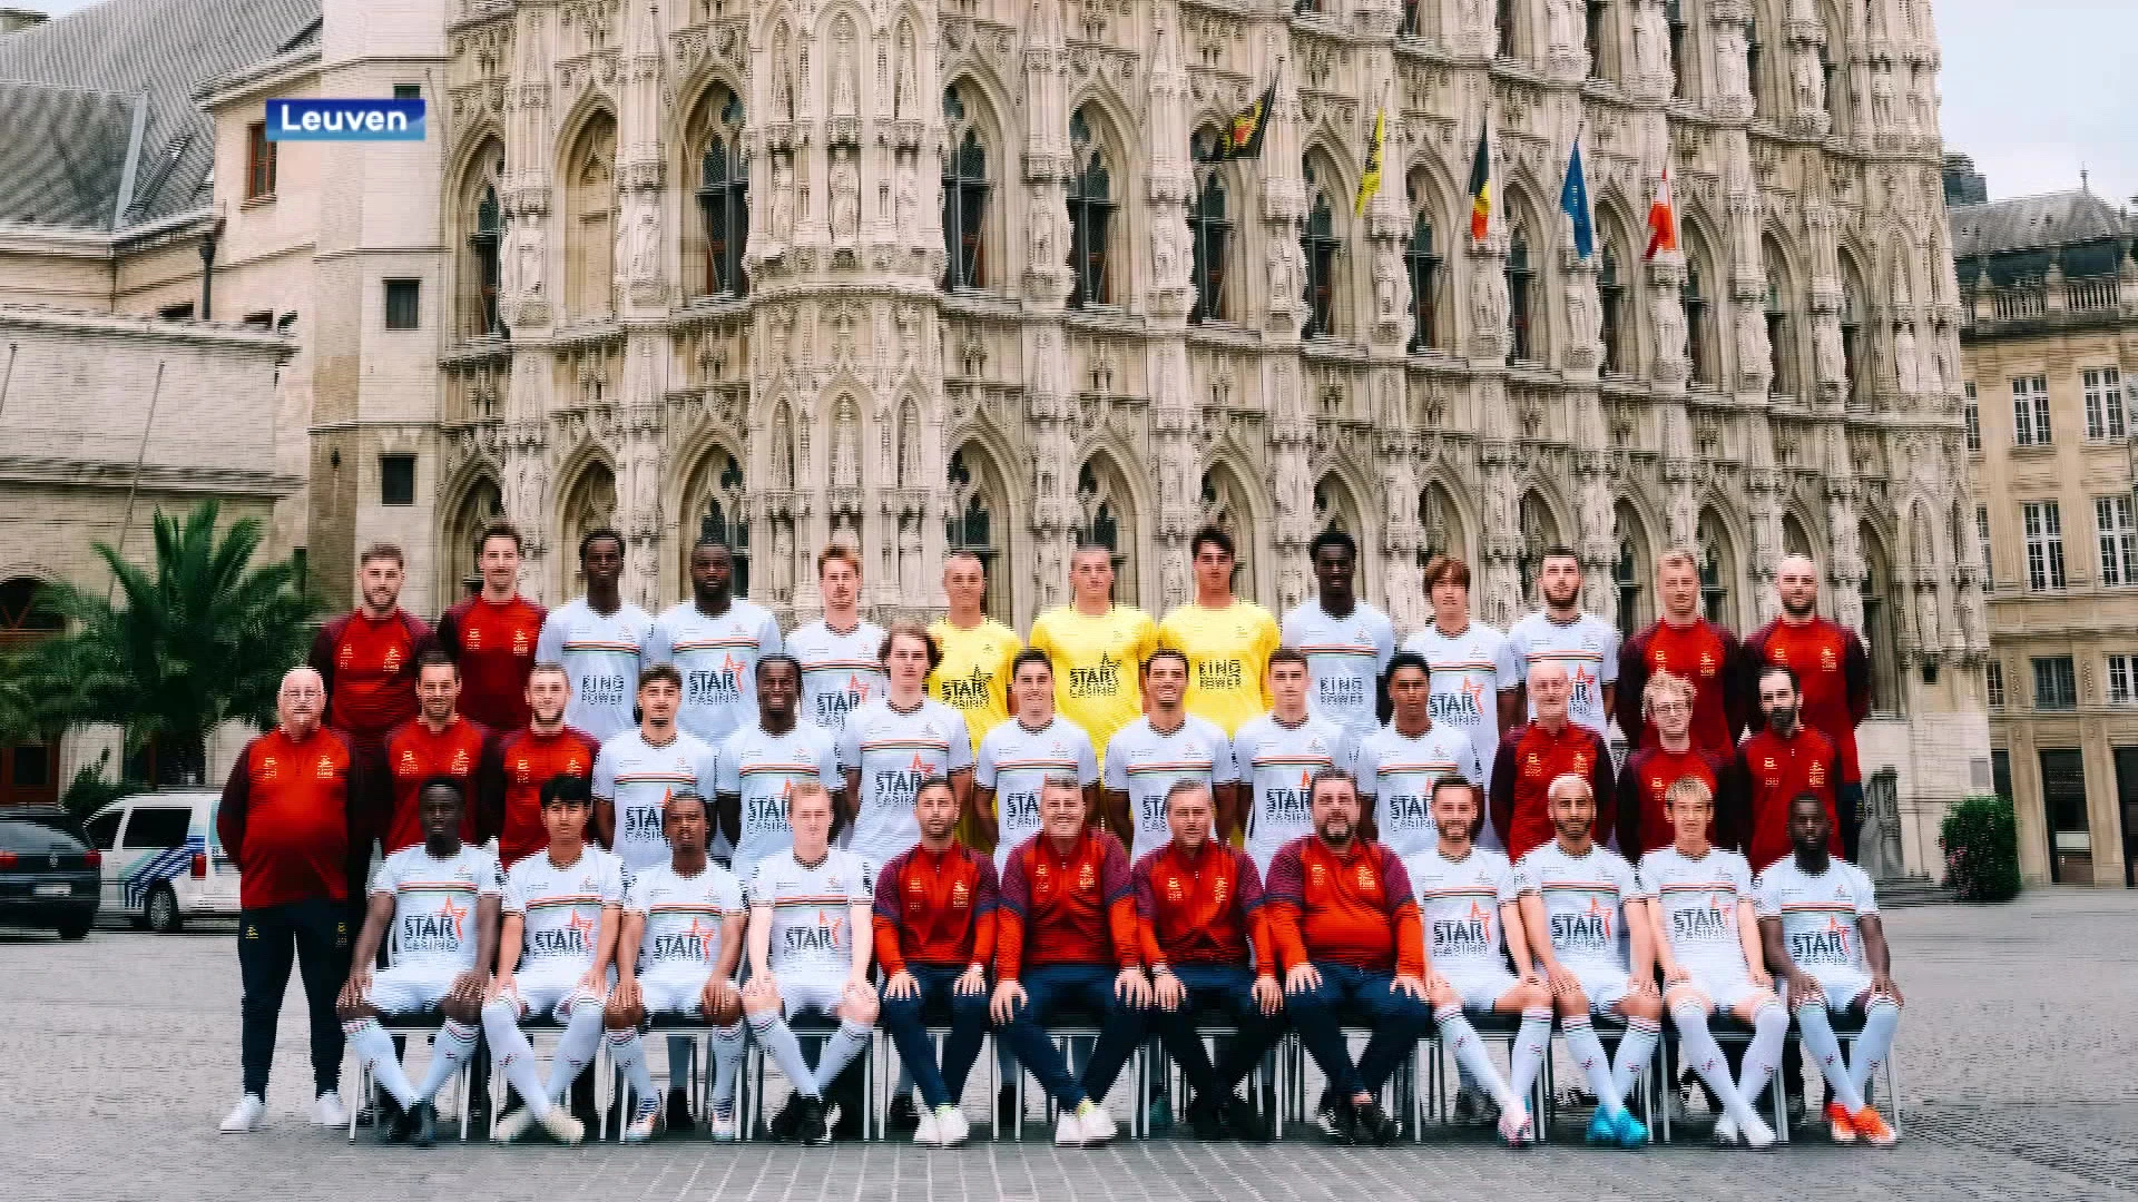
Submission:
<svg viewBox="0 0 2138 1202">
<path fill-rule="evenodd" d="M 1385 1146 L 1403 1129 L 1377 1101 L 1381 1084 L 1432 1022 L 1417 894 L 1403 860 L 1358 834 L 1349 772 L 1315 774 L 1313 815 L 1315 832 L 1270 862 L 1264 922 L 1285 971 L 1285 1012 L 1330 1080 L 1321 1129 L 1338 1144 Z M 1373 1027 L 1358 1061 L 1345 1044 L 1345 1018 Z"/>
</svg>

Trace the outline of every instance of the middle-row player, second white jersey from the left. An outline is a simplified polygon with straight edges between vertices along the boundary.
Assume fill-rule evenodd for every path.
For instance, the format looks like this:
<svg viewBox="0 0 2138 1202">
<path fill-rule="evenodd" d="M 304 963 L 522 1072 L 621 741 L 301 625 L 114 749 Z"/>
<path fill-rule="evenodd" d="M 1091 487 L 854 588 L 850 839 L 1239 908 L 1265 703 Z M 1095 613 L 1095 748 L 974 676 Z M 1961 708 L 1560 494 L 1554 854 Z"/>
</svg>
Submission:
<svg viewBox="0 0 2138 1202">
<path fill-rule="evenodd" d="M 757 864 L 793 847 L 787 798 L 815 781 L 834 796 L 847 787 L 838 749 L 817 723 L 795 719 L 802 665 L 791 654 L 757 661 L 757 723 L 721 744 L 721 830 L 735 847 L 735 879 L 748 883 Z"/>
</svg>

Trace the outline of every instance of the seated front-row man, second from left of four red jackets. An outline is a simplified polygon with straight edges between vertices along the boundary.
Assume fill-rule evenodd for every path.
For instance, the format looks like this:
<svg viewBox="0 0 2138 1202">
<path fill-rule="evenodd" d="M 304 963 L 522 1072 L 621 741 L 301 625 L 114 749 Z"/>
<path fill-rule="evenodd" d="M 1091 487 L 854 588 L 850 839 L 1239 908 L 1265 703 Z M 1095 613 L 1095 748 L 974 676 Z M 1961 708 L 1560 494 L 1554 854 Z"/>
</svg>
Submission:
<svg viewBox="0 0 2138 1202">
<path fill-rule="evenodd" d="M 1018 1061 L 1060 1101 L 1054 1142 L 1103 1144 L 1114 1119 L 1103 1101 L 1144 1039 L 1150 980 L 1120 841 L 1086 826 L 1084 785 L 1039 785 L 1039 834 L 1003 864 L 994 930 L 994 1001 L 988 1012 Z M 1069 1072 L 1043 1022 L 1058 1005 L 1097 1010 L 1097 1046 L 1082 1080 Z"/>
</svg>

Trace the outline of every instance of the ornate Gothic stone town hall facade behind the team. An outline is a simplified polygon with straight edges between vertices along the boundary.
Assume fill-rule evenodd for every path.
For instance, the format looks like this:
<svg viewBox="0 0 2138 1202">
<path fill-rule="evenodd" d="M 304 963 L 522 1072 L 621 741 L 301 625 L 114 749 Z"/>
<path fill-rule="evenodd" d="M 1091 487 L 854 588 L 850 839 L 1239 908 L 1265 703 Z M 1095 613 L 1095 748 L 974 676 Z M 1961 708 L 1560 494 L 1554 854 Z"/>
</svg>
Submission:
<svg viewBox="0 0 2138 1202">
<path fill-rule="evenodd" d="M 1116 548 L 1125 601 L 1184 601 L 1206 520 L 1274 607 L 1308 595 L 1308 539 L 1351 530 L 1405 629 L 1435 550 L 1507 622 L 1569 543 L 1589 607 L 1644 622 L 1655 554 L 1691 545 L 1740 629 L 1807 550 L 1907 714 L 1866 731 L 1866 766 L 1901 774 L 1909 862 L 1988 785 L 1924 0 L 366 13 L 325 4 L 321 86 L 440 66 L 415 180 L 449 329 L 428 415 L 374 417 L 359 374 L 321 368 L 314 466 L 436 449 L 434 605 L 492 513 L 532 535 L 552 601 L 614 522 L 648 605 L 701 530 L 746 537 L 750 595 L 795 620 L 827 541 L 862 550 L 879 616 L 939 605 L 943 552 L 977 543 L 1018 627 L 1065 601 L 1080 537 Z M 1210 163 L 1272 77 L 1259 160 Z M 1586 261 L 1556 205 L 1578 130 Z M 1683 250 L 1646 261 L 1666 167 Z M 410 537 L 321 492 L 314 471 L 314 563 Z"/>
</svg>

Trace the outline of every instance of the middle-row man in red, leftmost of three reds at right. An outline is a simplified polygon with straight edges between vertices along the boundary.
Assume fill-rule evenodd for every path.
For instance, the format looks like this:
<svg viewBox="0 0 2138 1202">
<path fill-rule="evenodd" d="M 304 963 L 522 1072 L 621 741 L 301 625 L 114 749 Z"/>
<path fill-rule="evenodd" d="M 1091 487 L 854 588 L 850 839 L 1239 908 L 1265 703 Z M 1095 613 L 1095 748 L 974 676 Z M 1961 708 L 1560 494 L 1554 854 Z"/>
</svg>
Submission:
<svg viewBox="0 0 2138 1202">
<path fill-rule="evenodd" d="M 1552 781 L 1565 774 L 1589 781 L 1597 798 L 1595 834 L 1610 838 L 1618 821 L 1610 779 L 1610 746 L 1604 736 L 1571 721 L 1574 684 L 1563 663 L 1529 669 L 1529 702 L 1537 716 L 1499 740 L 1492 755 L 1492 826 L 1507 834 L 1507 860 L 1520 862 L 1531 849 L 1552 841 Z"/>
</svg>

